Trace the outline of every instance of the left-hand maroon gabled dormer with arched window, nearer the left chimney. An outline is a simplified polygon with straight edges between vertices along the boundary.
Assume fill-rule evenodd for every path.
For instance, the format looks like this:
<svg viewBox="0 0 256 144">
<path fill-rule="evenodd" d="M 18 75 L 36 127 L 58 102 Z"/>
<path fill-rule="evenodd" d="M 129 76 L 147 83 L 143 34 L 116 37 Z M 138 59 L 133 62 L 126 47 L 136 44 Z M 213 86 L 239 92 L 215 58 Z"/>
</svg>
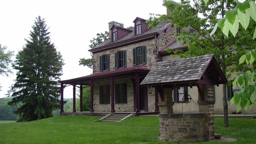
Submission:
<svg viewBox="0 0 256 144">
<path fill-rule="evenodd" d="M 114 25 L 110 28 L 110 32 L 111 32 L 111 41 L 115 42 L 127 36 L 128 34 L 130 34 L 132 30 Z"/>
</svg>

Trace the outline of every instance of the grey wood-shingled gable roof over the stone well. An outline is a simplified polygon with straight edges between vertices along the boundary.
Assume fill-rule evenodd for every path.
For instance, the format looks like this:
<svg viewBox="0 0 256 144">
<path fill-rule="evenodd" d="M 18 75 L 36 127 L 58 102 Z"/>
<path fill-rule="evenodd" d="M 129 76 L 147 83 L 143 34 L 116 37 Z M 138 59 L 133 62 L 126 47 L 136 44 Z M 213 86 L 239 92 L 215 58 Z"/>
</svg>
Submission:
<svg viewBox="0 0 256 144">
<path fill-rule="evenodd" d="M 145 86 L 196 86 L 227 83 L 213 54 L 158 62 L 140 83 Z"/>
</svg>

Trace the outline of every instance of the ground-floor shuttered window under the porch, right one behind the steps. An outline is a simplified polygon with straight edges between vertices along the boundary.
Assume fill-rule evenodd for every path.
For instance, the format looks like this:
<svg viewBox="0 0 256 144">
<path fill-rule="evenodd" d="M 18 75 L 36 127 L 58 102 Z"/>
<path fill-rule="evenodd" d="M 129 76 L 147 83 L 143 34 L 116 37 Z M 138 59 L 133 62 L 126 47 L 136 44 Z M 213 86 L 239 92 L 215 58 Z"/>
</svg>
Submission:
<svg viewBox="0 0 256 144">
<path fill-rule="evenodd" d="M 116 104 L 126 104 L 127 103 L 127 84 L 116 84 L 115 87 L 115 98 Z"/>
</svg>

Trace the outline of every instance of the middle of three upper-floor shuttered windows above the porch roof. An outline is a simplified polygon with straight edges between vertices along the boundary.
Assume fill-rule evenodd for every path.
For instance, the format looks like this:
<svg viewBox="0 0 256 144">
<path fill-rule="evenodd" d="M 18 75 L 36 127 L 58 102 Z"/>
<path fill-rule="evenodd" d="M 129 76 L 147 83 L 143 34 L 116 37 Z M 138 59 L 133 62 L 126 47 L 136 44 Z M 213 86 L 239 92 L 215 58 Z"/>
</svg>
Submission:
<svg viewBox="0 0 256 144">
<path fill-rule="evenodd" d="M 126 68 L 126 50 L 115 53 L 115 69 Z"/>
</svg>

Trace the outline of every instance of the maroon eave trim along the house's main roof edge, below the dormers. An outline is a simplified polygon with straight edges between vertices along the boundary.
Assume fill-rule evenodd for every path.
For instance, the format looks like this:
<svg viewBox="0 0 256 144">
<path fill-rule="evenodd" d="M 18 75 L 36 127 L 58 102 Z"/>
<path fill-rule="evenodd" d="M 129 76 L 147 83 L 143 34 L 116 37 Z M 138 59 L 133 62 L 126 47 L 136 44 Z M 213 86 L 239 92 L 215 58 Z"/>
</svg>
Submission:
<svg viewBox="0 0 256 144">
<path fill-rule="evenodd" d="M 128 40 L 124 40 L 124 41 L 121 41 L 121 42 L 116 42 L 116 43 L 113 43 L 113 44 L 108 44 L 106 46 L 101 46 L 101 47 L 98 47 L 98 48 L 93 48 L 93 49 L 90 49 L 88 51 L 89 52 L 105 51 L 105 50 L 108 50 L 108 49 L 111 49 L 111 48 L 114 48 L 114 47 L 123 46 L 123 45 L 130 44 L 130 43 L 133 43 L 133 42 L 138 42 L 138 41 L 146 40 L 146 39 L 149 39 L 149 38 L 155 38 L 155 34 L 159 34 L 159 33 L 158 32 L 154 32 L 154 33 L 151 33 L 151 34 L 146 34 L 146 35 L 138 36 L 138 37 L 131 38 L 131 39 L 128 39 Z"/>
</svg>

